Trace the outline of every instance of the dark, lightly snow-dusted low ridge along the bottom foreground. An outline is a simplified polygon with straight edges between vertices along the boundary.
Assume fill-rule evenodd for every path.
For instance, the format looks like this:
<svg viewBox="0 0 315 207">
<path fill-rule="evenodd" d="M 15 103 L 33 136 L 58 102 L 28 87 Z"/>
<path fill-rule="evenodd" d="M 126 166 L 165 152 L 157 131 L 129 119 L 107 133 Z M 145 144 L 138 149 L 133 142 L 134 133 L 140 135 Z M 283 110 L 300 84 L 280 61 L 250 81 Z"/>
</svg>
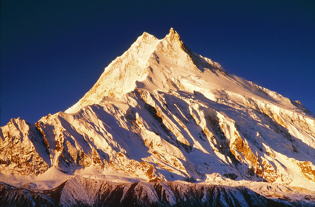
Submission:
<svg viewBox="0 0 315 207">
<path fill-rule="evenodd" d="M 75 177 L 51 190 L 1 182 L 0 206 L 315 206 L 268 199 L 247 187 L 182 182 L 112 183 Z"/>
</svg>

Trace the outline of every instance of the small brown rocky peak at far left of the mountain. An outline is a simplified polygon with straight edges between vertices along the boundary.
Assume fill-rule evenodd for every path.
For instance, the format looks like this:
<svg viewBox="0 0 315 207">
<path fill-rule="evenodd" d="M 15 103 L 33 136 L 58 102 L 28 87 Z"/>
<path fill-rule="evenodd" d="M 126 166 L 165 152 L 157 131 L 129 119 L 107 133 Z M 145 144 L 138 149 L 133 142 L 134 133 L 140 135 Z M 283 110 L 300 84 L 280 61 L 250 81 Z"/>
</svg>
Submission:
<svg viewBox="0 0 315 207">
<path fill-rule="evenodd" d="M 11 119 L 1 127 L 0 164 L 21 175 L 38 175 L 51 165 L 44 138 L 34 125 L 25 120 Z M 0 168 L 1 171 L 1 168 Z"/>
</svg>

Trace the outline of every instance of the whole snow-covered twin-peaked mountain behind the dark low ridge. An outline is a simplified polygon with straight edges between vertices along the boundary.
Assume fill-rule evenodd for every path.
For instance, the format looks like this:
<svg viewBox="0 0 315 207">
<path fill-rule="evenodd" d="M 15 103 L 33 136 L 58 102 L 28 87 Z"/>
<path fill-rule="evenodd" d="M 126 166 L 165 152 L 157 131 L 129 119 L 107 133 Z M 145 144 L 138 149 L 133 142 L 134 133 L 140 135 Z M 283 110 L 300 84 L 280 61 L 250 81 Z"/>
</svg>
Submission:
<svg viewBox="0 0 315 207">
<path fill-rule="evenodd" d="M 193 53 L 172 28 L 161 40 L 144 32 L 65 112 L 12 119 L 0 136 L 1 192 L 52 190 L 77 176 L 140 182 L 147 193 L 160 185 L 168 202 L 178 185 L 315 202 L 315 116 Z"/>
</svg>

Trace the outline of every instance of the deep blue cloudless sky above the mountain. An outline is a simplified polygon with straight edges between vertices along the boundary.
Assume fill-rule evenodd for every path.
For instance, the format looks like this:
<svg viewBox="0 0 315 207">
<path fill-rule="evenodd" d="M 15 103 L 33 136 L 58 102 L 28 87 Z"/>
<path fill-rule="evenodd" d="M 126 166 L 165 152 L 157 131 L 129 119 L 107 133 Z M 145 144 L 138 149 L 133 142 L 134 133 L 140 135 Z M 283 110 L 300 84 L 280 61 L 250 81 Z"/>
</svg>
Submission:
<svg viewBox="0 0 315 207">
<path fill-rule="evenodd" d="M 314 1 L 1 0 L 1 120 L 64 111 L 144 31 L 315 113 Z"/>
</svg>

